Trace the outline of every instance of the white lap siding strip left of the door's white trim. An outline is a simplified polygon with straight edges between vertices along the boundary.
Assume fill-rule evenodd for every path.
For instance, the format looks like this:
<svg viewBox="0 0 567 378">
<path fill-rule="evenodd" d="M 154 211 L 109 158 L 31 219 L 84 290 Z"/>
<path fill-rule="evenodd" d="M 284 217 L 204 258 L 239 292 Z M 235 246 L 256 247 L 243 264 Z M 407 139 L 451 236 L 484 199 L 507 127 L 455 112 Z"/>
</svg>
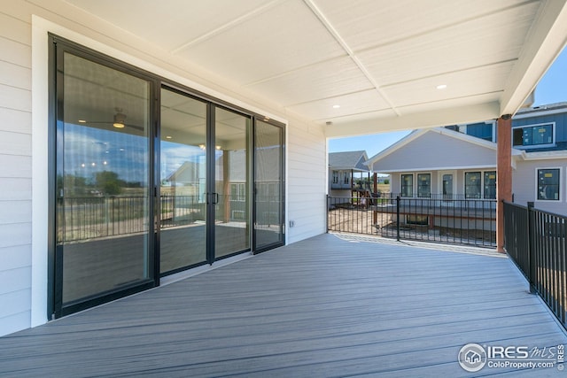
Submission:
<svg viewBox="0 0 567 378">
<path fill-rule="evenodd" d="M 31 324 L 31 25 L 0 12 L 0 335 Z"/>
</svg>

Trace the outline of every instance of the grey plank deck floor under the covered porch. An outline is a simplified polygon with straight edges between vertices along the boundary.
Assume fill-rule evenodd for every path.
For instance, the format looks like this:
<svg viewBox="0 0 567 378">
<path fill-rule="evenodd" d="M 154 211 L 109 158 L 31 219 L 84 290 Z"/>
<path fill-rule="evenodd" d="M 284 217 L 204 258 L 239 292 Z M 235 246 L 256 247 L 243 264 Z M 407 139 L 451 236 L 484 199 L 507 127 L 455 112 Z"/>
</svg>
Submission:
<svg viewBox="0 0 567 378">
<path fill-rule="evenodd" d="M 564 374 L 457 362 L 567 343 L 508 258 L 373 240 L 319 235 L 1 337 L 0 376 Z"/>
</svg>

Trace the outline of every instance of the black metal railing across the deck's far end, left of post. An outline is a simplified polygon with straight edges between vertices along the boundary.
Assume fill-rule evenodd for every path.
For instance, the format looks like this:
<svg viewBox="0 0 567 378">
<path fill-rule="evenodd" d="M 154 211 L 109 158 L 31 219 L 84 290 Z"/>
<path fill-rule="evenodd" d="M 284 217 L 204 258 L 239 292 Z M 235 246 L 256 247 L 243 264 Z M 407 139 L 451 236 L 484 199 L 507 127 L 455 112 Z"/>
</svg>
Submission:
<svg viewBox="0 0 567 378">
<path fill-rule="evenodd" d="M 327 230 L 437 243 L 496 246 L 496 201 L 395 194 L 327 197 Z"/>
</svg>

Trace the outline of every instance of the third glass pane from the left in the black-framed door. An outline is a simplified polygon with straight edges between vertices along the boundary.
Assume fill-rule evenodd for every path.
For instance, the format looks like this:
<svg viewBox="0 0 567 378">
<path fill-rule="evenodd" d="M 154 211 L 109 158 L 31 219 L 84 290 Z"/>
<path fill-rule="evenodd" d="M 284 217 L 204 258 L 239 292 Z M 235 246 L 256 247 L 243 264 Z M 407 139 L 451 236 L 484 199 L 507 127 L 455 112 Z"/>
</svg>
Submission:
<svg viewBox="0 0 567 378">
<path fill-rule="evenodd" d="M 214 258 L 222 258 L 250 249 L 251 119 L 216 107 L 214 120 Z"/>
</svg>

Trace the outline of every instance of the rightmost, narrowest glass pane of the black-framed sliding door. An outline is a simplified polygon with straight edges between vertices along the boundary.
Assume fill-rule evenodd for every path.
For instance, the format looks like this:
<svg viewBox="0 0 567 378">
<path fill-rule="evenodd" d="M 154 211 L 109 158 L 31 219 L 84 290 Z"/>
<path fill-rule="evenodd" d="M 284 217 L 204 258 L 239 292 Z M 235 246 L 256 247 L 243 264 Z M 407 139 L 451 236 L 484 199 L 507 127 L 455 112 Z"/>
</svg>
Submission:
<svg viewBox="0 0 567 378">
<path fill-rule="evenodd" d="M 283 128 L 254 127 L 254 251 L 283 243 Z"/>
</svg>

